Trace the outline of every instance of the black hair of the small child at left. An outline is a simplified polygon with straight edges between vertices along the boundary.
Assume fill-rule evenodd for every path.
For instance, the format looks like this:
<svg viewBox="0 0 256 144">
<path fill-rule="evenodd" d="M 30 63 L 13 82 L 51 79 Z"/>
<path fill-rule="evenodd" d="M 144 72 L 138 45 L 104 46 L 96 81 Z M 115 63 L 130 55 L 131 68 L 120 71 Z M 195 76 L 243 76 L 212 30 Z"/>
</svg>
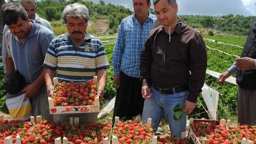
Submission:
<svg viewBox="0 0 256 144">
<path fill-rule="evenodd" d="M 10 95 L 15 95 L 22 90 L 25 83 L 25 78 L 17 70 L 14 73 L 6 74 L 3 78 L 3 88 Z"/>
</svg>

